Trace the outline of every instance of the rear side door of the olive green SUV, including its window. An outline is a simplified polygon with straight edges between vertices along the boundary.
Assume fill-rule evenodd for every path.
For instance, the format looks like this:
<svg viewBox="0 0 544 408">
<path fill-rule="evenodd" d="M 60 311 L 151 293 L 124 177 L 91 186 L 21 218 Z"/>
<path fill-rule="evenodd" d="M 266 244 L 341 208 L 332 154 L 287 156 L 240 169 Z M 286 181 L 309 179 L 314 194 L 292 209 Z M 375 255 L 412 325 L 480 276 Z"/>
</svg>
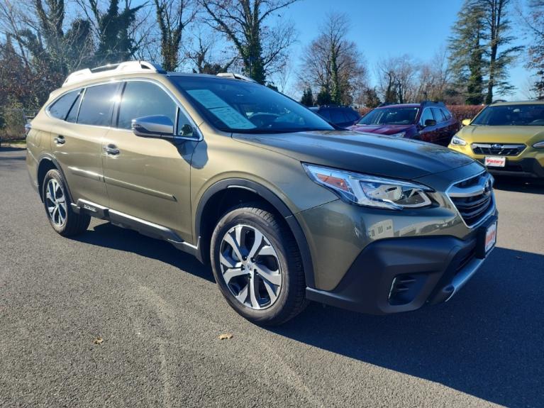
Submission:
<svg viewBox="0 0 544 408">
<path fill-rule="evenodd" d="M 118 84 L 101 84 L 78 89 L 64 121 L 52 126 L 51 150 L 66 177 L 72 199 L 104 205 L 107 202 L 102 172 L 101 144 L 108 131 L 113 98 Z M 52 105 L 51 116 L 60 115 Z"/>
</svg>

